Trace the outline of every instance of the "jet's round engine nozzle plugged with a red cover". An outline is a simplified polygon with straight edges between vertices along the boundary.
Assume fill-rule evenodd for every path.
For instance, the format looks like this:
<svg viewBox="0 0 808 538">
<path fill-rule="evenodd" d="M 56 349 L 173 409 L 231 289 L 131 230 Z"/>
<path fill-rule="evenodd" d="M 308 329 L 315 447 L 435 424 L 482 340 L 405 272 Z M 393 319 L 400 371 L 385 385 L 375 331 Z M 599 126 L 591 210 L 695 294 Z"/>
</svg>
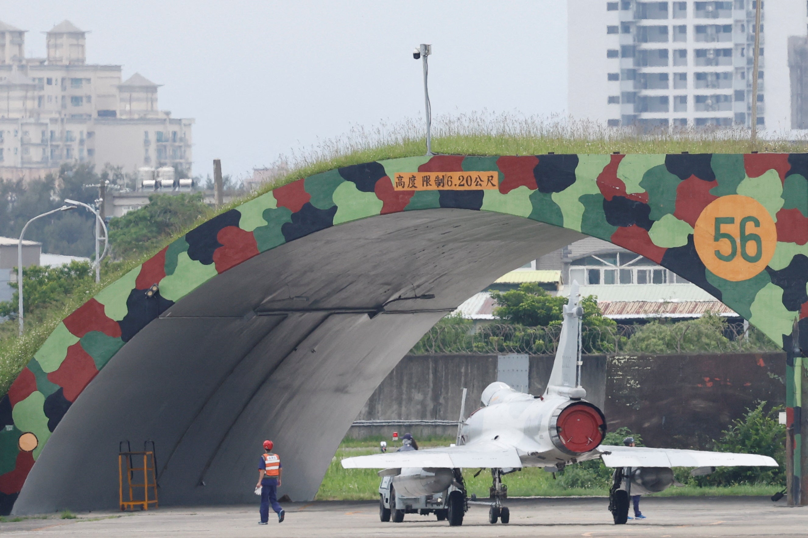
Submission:
<svg viewBox="0 0 808 538">
<path fill-rule="evenodd" d="M 606 417 L 590 402 L 568 402 L 550 417 L 550 439 L 569 454 L 591 452 L 604 440 Z"/>
</svg>

